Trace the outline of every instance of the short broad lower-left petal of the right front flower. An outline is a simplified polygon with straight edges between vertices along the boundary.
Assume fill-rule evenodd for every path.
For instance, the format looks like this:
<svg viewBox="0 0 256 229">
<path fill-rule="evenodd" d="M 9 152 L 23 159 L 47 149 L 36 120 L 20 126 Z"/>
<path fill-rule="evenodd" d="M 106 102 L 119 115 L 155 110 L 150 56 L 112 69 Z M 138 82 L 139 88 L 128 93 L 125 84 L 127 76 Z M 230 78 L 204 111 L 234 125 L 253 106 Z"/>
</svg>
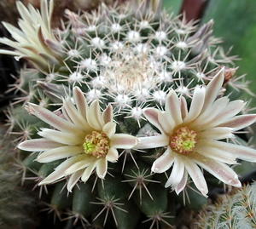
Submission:
<svg viewBox="0 0 256 229">
<path fill-rule="evenodd" d="M 166 172 L 166 170 L 171 168 L 173 162 L 174 155 L 172 154 L 171 148 L 168 146 L 166 152 L 154 161 L 151 170 L 158 174 Z"/>
</svg>

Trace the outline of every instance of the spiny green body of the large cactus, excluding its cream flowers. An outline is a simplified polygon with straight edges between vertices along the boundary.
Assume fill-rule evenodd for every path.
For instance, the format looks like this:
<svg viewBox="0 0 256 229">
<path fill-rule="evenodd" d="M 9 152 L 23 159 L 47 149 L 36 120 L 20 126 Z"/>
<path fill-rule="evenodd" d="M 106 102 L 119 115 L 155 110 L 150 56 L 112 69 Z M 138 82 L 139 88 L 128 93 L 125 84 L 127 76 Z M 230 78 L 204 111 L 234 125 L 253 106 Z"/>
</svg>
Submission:
<svg viewBox="0 0 256 229">
<path fill-rule="evenodd" d="M 147 10 L 147 3 L 151 11 Z M 61 115 L 61 98 L 73 97 L 72 89 L 78 86 L 89 103 L 98 99 L 102 109 L 113 104 L 118 133 L 157 135 L 157 129 L 148 126 L 143 110 L 149 106 L 164 109 L 170 89 L 183 95 L 189 104 L 195 85 L 207 84 L 222 66 L 226 83 L 234 80 L 236 57 L 228 57 L 223 49 L 216 48 L 219 40 L 212 37 L 212 20 L 198 28 L 194 22 L 185 23 L 160 12 L 160 1 L 133 1 L 131 6 L 128 3 L 112 9 L 102 4 L 97 11 L 81 15 L 66 11 L 68 24 L 51 31 L 57 45 L 44 40 L 48 48 L 58 48 L 56 64 L 38 53 L 44 59 L 43 64 L 38 64 L 44 67 L 25 69 L 13 85 L 20 99 L 14 101 L 15 108 L 9 112 L 10 133 L 20 133 L 22 140 L 37 138 L 34 130 L 49 126 L 26 112 L 20 114 L 20 109 L 25 111 L 24 105 L 32 102 Z M 236 87 L 236 83 L 232 85 Z M 25 131 L 25 127 L 32 130 Z M 172 226 L 173 209 L 182 203 L 164 187 L 166 175 L 150 175 L 154 159 L 162 152 L 164 148 L 149 150 L 147 154 L 120 151 L 119 162 L 109 166 L 110 175 L 104 180 L 92 174 L 85 185 L 78 182 L 67 197 L 64 179 L 40 196 L 55 215 L 64 222 L 73 219 L 78 228 L 81 224 L 84 228 L 91 225 L 132 229 L 142 222 L 147 225 L 148 220 L 150 229 Z M 36 153 L 26 156 L 27 152 L 23 152 L 26 175 L 38 176 L 38 180 L 61 163 L 60 160 L 45 166 L 34 162 Z M 203 197 L 191 197 L 199 204 L 191 204 L 189 209 L 198 211 L 205 206 Z"/>
</svg>

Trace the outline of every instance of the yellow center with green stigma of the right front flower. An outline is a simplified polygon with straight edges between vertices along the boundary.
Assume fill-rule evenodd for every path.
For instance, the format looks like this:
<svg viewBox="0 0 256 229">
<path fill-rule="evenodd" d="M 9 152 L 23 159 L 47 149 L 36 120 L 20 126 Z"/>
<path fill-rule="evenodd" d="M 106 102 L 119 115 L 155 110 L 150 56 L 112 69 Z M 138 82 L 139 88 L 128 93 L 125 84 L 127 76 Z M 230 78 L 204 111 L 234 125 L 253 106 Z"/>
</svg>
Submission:
<svg viewBox="0 0 256 229">
<path fill-rule="evenodd" d="M 189 154 L 195 148 L 196 132 L 187 126 L 177 129 L 170 138 L 169 146 L 173 152 Z"/>
</svg>

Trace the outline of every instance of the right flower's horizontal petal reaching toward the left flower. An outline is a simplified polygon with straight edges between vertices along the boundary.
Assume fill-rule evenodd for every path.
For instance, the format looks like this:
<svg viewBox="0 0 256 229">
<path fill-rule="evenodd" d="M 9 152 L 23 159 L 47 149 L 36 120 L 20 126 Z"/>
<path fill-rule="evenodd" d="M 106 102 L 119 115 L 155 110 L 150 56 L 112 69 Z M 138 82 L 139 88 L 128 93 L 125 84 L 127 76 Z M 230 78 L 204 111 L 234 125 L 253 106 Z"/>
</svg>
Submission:
<svg viewBox="0 0 256 229">
<path fill-rule="evenodd" d="M 169 136 L 166 135 L 155 135 L 149 137 L 138 138 L 137 146 L 134 149 L 153 149 L 162 146 L 167 146 L 169 144 Z"/>
</svg>

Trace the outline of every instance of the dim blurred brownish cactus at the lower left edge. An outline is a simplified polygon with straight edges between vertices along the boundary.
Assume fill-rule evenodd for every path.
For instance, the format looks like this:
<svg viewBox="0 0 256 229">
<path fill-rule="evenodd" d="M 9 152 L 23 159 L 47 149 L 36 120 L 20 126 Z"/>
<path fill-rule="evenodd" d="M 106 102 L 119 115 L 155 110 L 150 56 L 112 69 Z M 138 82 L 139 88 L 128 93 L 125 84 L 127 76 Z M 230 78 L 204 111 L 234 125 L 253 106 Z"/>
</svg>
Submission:
<svg viewBox="0 0 256 229">
<path fill-rule="evenodd" d="M 5 229 L 32 228 L 38 225 L 35 210 L 36 198 L 32 190 L 21 186 L 22 170 L 17 170 L 13 140 L 4 135 L 6 128 L 0 128 L 0 226 Z"/>
</svg>

